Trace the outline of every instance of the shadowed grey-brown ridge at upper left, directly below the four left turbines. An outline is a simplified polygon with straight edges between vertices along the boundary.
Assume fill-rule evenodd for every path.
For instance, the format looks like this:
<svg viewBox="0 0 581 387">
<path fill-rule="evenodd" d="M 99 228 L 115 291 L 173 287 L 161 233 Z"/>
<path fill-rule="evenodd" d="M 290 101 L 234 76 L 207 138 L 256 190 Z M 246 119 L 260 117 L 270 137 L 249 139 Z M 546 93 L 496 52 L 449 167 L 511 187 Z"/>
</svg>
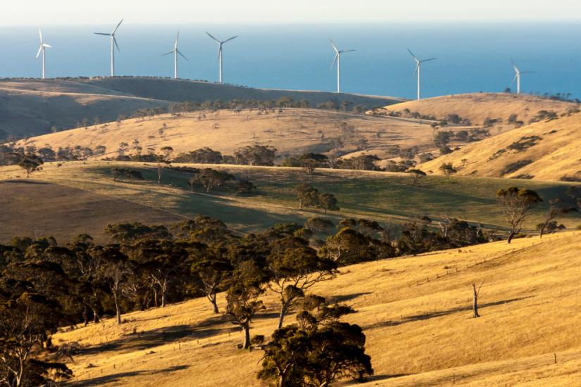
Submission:
<svg viewBox="0 0 581 387">
<path fill-rule="evenodd" d="M 68 129 L 84 118 L 115 121 L 142 108 L 168 106 L 180 101 L 273 100 L 282 96 L 311 105 L 346 101 L 366 108 L 403 101 L 382 96 L 334 94 L 320 91 L 250 89 L 209 82 L 158 78 L 115 77 L 71 80 L 0 80 L 0 128 L 16 137 L 48 133 L 51 127 Z M 0 133 L 1 134 L 1 133 Z M 1 137 L 0 137 L 1 138 Z"/>
</svg>

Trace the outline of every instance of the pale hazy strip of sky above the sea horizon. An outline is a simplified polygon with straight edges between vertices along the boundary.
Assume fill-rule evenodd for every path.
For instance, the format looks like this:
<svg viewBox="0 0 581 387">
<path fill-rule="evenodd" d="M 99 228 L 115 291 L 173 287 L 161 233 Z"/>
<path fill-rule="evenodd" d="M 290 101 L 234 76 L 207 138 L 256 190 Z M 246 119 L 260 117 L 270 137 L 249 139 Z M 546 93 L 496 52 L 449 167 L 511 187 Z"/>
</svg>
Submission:
<svg viewBox="0 0 581 387">
<path fill-rule="evenodd" d="M 0 25 L 581 20 L 580 0 L 1 0 Z"/>
</svg>

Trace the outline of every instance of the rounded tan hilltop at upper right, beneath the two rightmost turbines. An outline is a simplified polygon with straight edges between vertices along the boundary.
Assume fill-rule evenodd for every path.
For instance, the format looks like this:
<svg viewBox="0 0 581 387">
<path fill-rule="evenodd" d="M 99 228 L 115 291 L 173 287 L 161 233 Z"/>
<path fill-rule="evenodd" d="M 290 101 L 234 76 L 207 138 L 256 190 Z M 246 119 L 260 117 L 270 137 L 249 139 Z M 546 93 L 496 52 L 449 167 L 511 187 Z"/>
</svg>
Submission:
<svg viewBox="0 0 581 387">
<path fill-rule="evenodd" d="M 436 120 L 449 120 L 450 115 L 469 120 L 471 125 L 483 125 L 485 120 L 500 120 L 497 124 L 509 124 L 508 119 L 524 124 L 534 119 L 540 111 L 552 111 L 556 115 L 578 110 L 579 104 L 553 101 L 528 94 L 475 93 L 439 96 L 420 101 L 408 101 L 385 107 L 385 112 L 396 112 L 406 116 L 410 113 L 432 116 Z M 377 110 L 381 113 L 381 110 Z M 514 125 L 510 125 L 514 127 Z"/>
</svg>

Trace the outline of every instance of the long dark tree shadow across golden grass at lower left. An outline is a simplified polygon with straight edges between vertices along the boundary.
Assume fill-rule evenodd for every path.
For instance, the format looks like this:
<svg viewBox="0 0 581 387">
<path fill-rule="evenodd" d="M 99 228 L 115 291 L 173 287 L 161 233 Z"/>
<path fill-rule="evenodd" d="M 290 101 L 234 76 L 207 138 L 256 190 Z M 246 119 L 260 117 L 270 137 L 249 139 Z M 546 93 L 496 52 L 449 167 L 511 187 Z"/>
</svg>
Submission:
<svg viewBox="0 0 581 387">
<path fill-rule="evenodd" d="M 224 326 L 228 322 L 227 316 L 211 317 L 194 325 L 175 325 L 150 331 L 139 331 L 135 334 L 127 334 L 116 340 L 93 345 L 81 350 L 80 355 L 91 355 L 108 351 L 132 352 L 135 350 L 148 350 L 168 343 L 175 343 L 182 339 L 196 340 L 208 338 L 218 334 L 227 334 L 237 331 L 235 326 Z"/>
</svg>

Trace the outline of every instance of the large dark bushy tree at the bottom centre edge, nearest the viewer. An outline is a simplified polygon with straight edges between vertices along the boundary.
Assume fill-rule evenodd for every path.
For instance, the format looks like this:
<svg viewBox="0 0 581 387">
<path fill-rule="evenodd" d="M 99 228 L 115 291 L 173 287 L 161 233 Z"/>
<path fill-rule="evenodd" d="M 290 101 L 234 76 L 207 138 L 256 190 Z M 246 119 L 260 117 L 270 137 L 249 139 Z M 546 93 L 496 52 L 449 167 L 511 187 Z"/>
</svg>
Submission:
<svg viewBox="0 0 581 387">
<path fill-rule="evenodd" d="M 306 297 L 298 324 L 277 329 L 265 345 L 258 378 L 279 387 L 331 386 L 346 376 L 362 381 L 373 375 L 361 327 L 338 321 L 351 312 L 345 305 L 328 305 L 323 297 Z"/>
</svg>

